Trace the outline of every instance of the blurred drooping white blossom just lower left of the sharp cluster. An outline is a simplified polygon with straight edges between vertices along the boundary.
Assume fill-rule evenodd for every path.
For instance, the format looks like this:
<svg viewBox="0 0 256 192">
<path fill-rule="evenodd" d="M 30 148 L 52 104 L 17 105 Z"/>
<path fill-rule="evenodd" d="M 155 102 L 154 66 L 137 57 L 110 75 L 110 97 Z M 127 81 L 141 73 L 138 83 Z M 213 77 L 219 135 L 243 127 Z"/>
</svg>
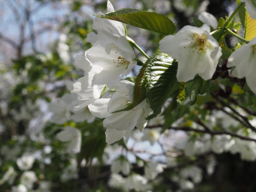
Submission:
<svg viewBox="0 0 256 192">
<path fill-rule="evenodd" d="M 64 127 L 63 131 L 57 134 L 57 139 L 62 142 L 70 141 L 68 153 L 79 153 L 81 149 L 82 135 L 79 129 L 74 127 Z"/>
</svg>

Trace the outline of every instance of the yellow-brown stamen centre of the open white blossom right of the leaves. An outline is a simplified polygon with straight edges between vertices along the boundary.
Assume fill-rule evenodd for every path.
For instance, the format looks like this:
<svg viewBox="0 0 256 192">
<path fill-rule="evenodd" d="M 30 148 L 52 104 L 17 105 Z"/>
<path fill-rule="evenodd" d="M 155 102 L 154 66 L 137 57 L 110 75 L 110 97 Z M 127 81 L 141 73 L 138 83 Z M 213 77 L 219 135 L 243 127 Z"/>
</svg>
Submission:
<svg viewBox="0 0 256 192">
<path fill-rule="evenodd" d="M 186 39 L 188 41 L 191 41 L 191 39 Z M 193 34 L 192 41 L 187 47 L 184 48 L 190 48 L 189 52 L 205 52 L 208 48 L 208 42 L 207 42 L 207 36 L 205 34 L 202 34 L 201 36 L 198 34 Z"/>
</svg>

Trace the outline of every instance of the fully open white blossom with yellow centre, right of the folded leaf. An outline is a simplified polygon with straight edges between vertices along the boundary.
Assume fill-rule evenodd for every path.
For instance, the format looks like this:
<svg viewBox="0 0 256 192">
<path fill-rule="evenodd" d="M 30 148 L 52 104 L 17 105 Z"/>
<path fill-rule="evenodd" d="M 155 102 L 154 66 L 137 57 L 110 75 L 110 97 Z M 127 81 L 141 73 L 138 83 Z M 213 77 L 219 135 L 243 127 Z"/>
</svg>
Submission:
<svg viewBox="0 0 256 192">
<path fill-rule="evenodd" d="M 177 79 L 179 82 L 192 80 L 197 74 L 209 80 L 219 62 L 221 48 L 209 35 L 210 28 L 185 26 L 176 35 L 165 36 L 160 42 L 160 52 L 178 60 Z"/>
</svg>

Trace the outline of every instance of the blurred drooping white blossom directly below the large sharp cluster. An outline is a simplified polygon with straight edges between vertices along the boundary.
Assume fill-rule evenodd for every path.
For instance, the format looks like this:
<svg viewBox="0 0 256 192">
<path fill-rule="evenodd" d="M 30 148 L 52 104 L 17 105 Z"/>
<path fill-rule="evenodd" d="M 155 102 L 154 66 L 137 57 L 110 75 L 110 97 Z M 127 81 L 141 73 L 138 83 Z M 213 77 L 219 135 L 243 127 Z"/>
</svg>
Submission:
<svg viewBox="0 0 256 192">
<path fill-rule="evenodd" d="M 124 175 L 129 175 L 131 164 L 124 156 L 120 156 L 112 162 L 110 170 L 113 173 L 122 172 Z"/>
</svg>

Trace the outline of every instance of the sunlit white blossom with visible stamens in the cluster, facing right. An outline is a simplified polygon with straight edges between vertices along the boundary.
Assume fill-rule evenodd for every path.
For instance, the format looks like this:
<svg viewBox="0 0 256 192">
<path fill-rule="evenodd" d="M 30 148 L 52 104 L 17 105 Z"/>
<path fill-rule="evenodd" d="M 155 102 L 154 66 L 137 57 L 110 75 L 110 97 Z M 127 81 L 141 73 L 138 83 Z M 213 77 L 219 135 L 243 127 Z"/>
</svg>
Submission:
<svg viewBox="0 0 256 192">
<path fill-rule="evenodd" d="M 92 86 L 115 82 L 128 75 L 137 64 L 135 53 L 125 36 L 117 37 L 105 30 L 98 33 L 99 43 L 85 52 L 92 64 L 103 68 L 93 76 Z"/>
</svg>

